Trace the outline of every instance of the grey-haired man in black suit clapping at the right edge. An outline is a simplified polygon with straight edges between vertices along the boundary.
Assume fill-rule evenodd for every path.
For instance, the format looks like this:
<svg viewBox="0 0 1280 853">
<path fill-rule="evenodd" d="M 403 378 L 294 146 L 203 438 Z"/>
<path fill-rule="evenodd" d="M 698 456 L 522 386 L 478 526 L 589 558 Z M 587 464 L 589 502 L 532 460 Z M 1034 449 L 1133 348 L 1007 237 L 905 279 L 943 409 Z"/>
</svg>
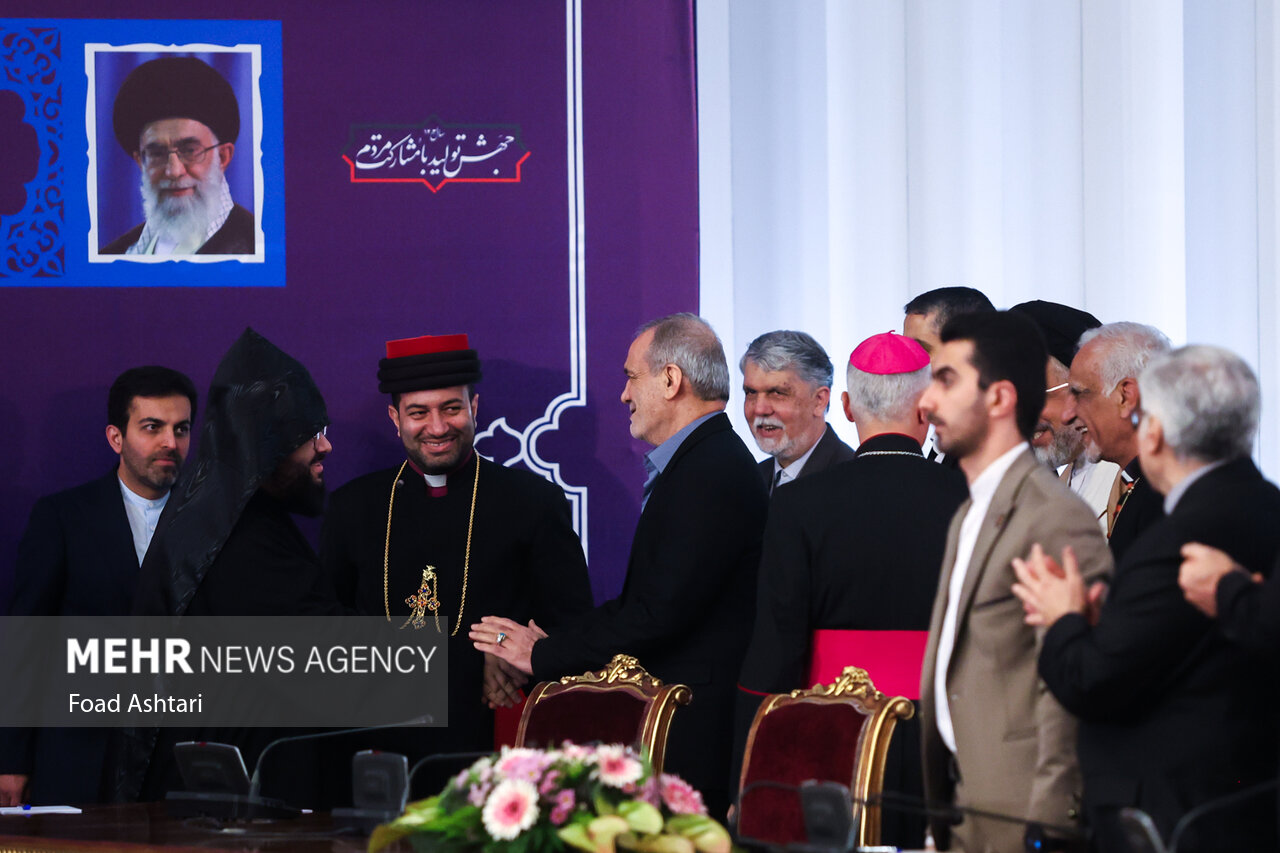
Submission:
<svg viewBox="0 0 1280 853">
<path fill-rule="evenodd" d="M 1217 347 L 1156 356 L 1139 377 L 1142 470 L 1166 516 L 1116 570 L 1092 620 L 1074 561 L 1018 566 L 1028 620 L 1048 625 L 1039 672 L 1080 719 L 1084 804 L 1102 850 L 1125 850 L 1117 813 L 1144 809 L 1166 838 L 1192 808 L 1276 776 L 1275 680 L 1183 598 L 1181 548 L 1202 542 L 1270 571 L 1280 489 L 1249 459 L 1257 378 Z M 1272 800 L 1202 815 L 1179 849 L 1276 849 Z"/>
</svg>

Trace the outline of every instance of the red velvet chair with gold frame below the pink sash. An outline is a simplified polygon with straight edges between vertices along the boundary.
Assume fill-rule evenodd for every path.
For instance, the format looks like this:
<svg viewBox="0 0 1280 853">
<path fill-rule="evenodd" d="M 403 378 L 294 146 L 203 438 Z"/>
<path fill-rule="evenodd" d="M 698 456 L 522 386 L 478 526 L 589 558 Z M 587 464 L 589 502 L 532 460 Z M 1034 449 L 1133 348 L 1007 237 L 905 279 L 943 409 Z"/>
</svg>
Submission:
<svg viewBox="0 0 1280 853">
<path fill-rule="evenodd" d="M 847 785 L 855 800 L 879 794 L 884 754 L 899 720 L 915 713 L 902 697 L 876 689 L 864 670 L 849 666 L 831 685 L 768 697 L 746 739 L 737 835 L 771 844 L 805 841 L 796 792 L 753 783 L 800 786 L 814 779 Z M 879 843 L 879 808 L 854 804 L 858 844 Z"/>
</svg>

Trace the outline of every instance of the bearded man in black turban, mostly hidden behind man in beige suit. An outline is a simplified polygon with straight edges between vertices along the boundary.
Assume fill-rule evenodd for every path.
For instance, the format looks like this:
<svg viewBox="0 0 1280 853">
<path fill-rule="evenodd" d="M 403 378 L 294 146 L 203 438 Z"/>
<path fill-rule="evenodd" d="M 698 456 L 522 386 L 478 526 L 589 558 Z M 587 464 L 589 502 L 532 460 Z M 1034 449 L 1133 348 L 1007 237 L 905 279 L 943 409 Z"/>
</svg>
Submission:
<svg viewBox="0 0 1280 853">
<path fill-rule="evenodd" d="M 1106 533 L 1111 529 L 1115 507 L 1110 498 L 1120 466 L 1106 460 L 1088 459 L 1084 452 L 1084 424 L 1079 419 L 1071 423 L 1062 419 L 1071 394 L 1068 375 L 1080 336 L 1102 323 L 1088 311 L 1044 300 L 1023 302 L 1010 310 L 1034 323 L 1048 346 L 1044 409 L 1032 433 L 1032 452 L 1036 459 L 1056 470 L 1061 480 L 1089 505 Z"/>
</svg>

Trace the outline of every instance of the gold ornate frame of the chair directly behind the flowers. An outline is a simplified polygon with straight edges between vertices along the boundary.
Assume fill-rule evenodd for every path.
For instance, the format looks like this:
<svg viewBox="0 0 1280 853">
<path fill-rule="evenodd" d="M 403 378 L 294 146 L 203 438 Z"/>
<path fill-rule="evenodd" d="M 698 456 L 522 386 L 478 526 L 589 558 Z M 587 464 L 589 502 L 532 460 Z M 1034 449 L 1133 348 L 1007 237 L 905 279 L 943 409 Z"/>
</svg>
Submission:
<svg viewBox="0 0 1280 853">
<path fill-rule="evenodd" d="M 677 707 L 690 703 L 694 694 L 684 684 L 663 684 L 649 675 L 630 654 L 616 654 L 608 666 L 595 672 L 566 675 L 558 681 L 541 681 L 535 685 L 529 698 L 525 699 L 525 710 L 520 715 L 516 745 L 525 745 L 530 717 L 545 701 L 567 693 L 611 692 L 622 692 L 646 703 L 637 742 L 631 745 L 648 754 L 654 770 L 662 772 L 671 719 Z"/>
</svg>

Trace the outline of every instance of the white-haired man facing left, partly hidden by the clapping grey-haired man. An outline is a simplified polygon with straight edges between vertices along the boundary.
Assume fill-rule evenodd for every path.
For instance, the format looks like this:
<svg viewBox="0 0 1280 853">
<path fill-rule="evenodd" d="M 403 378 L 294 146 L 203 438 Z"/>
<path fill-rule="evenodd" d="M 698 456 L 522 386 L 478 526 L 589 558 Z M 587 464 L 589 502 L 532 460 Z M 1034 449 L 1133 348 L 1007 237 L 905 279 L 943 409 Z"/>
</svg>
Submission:
<svg viewBox="0 0 1280 853">
<path fill-rule="evenodd" d="M 1080 336 L 1071 361 L 1070 400 L 1062 421 L 1084 425 L 1084 453 L 1121 469 L 1107 500 L 1107 540 L 1119 564 L 1134 539 L 1164 514 L 1160 496 L 1138 460 L 1142 393 L 1138 374 L 1152 356 L 1169 351 L 1169 338 L 1142 323 L 1108 323 Z"/>
</svg>

